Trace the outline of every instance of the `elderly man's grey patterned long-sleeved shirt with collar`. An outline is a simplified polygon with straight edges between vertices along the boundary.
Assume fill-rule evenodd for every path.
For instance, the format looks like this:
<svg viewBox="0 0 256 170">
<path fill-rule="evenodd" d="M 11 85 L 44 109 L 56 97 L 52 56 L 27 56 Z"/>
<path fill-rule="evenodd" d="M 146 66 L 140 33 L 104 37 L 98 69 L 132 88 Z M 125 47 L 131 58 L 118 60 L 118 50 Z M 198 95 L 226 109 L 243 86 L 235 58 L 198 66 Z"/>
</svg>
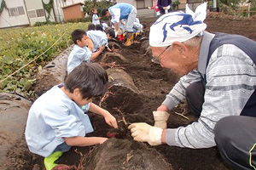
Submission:
<svg viewBox="0 0 256 170">
<path fill-rule="evenodd" d="M 189 84 L 201 82 L 207 77 L 206 92 L 201 116 L 187 127 L 166 130 L 166 143 L 179 147 L 208 148 L 215 146 L 213 128 L 225 116 L 239 116 L 247 100 L 253 94 L 250 88 L 256 84 L 256 67 L 253 60 L 241 48 L 232 44 L 218 47 L 207 65 L 207 55 L 213 34 L 205 33 L 201 42 L 198 70 L 181 77 L 166 95 L 163 105 L 170 110 L 185 98 Z"/>
</svg>

